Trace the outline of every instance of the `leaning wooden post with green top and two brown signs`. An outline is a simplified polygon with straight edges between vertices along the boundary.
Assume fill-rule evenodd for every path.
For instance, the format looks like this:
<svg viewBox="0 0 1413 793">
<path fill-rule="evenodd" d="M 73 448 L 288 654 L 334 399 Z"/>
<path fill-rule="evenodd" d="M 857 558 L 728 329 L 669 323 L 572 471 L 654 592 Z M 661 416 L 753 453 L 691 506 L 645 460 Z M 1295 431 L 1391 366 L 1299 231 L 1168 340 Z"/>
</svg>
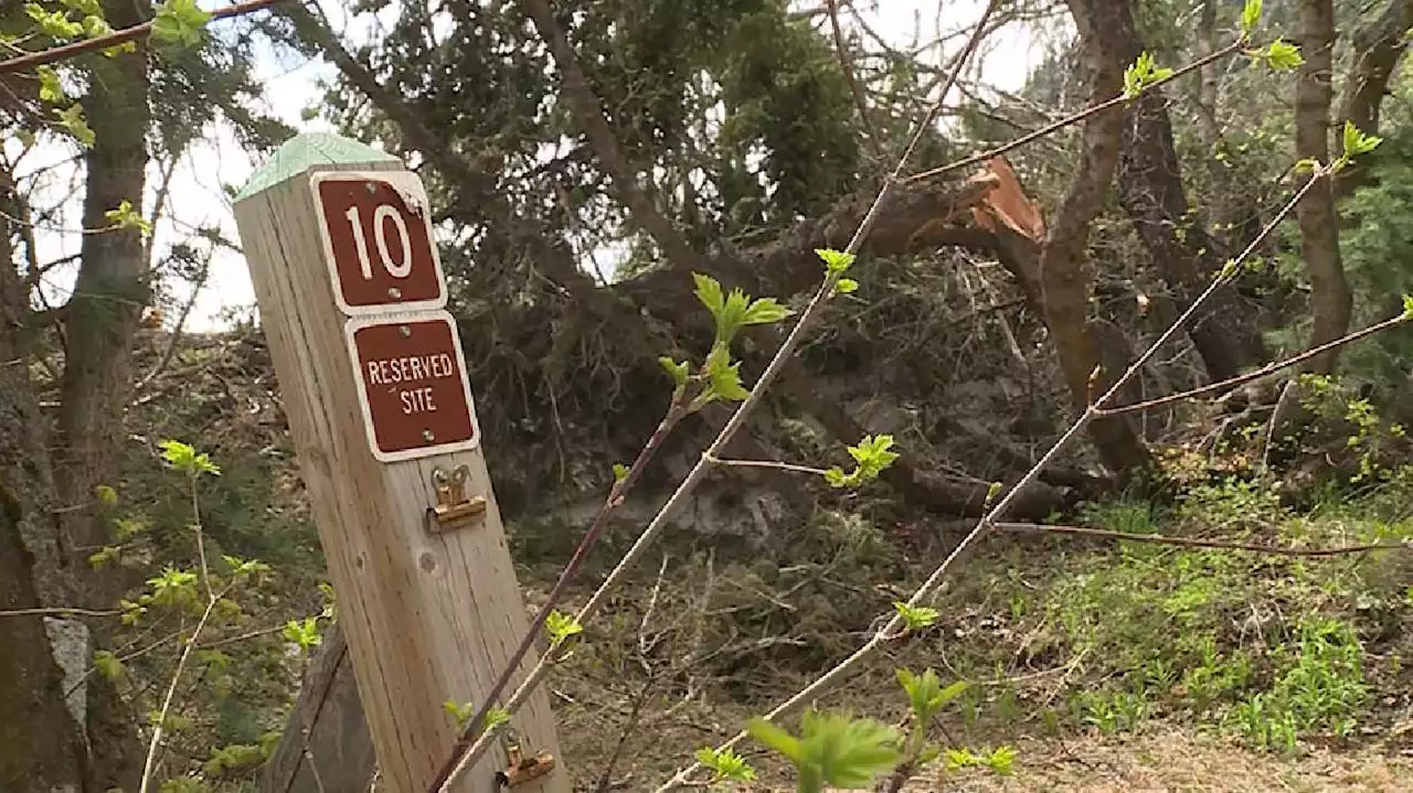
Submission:
<svg viewBox="0 0 1413 793">
<path fill-rule="evenodd" d="M 427 789 L 455 742 L 444 703 L 480 704 L 530 624 L 444 310 L 430 212 L 400 161 L 325 134 L 280 147 L 235 203 L 359 697 L 394 793 Z M 536 694 L 512 727 L 514 753 L 554 759 L 517 789 L 568 793 L 548 697 Z M 509 753 L 489 752 L 459 790 L 499 790 Z"/>
</svg>

